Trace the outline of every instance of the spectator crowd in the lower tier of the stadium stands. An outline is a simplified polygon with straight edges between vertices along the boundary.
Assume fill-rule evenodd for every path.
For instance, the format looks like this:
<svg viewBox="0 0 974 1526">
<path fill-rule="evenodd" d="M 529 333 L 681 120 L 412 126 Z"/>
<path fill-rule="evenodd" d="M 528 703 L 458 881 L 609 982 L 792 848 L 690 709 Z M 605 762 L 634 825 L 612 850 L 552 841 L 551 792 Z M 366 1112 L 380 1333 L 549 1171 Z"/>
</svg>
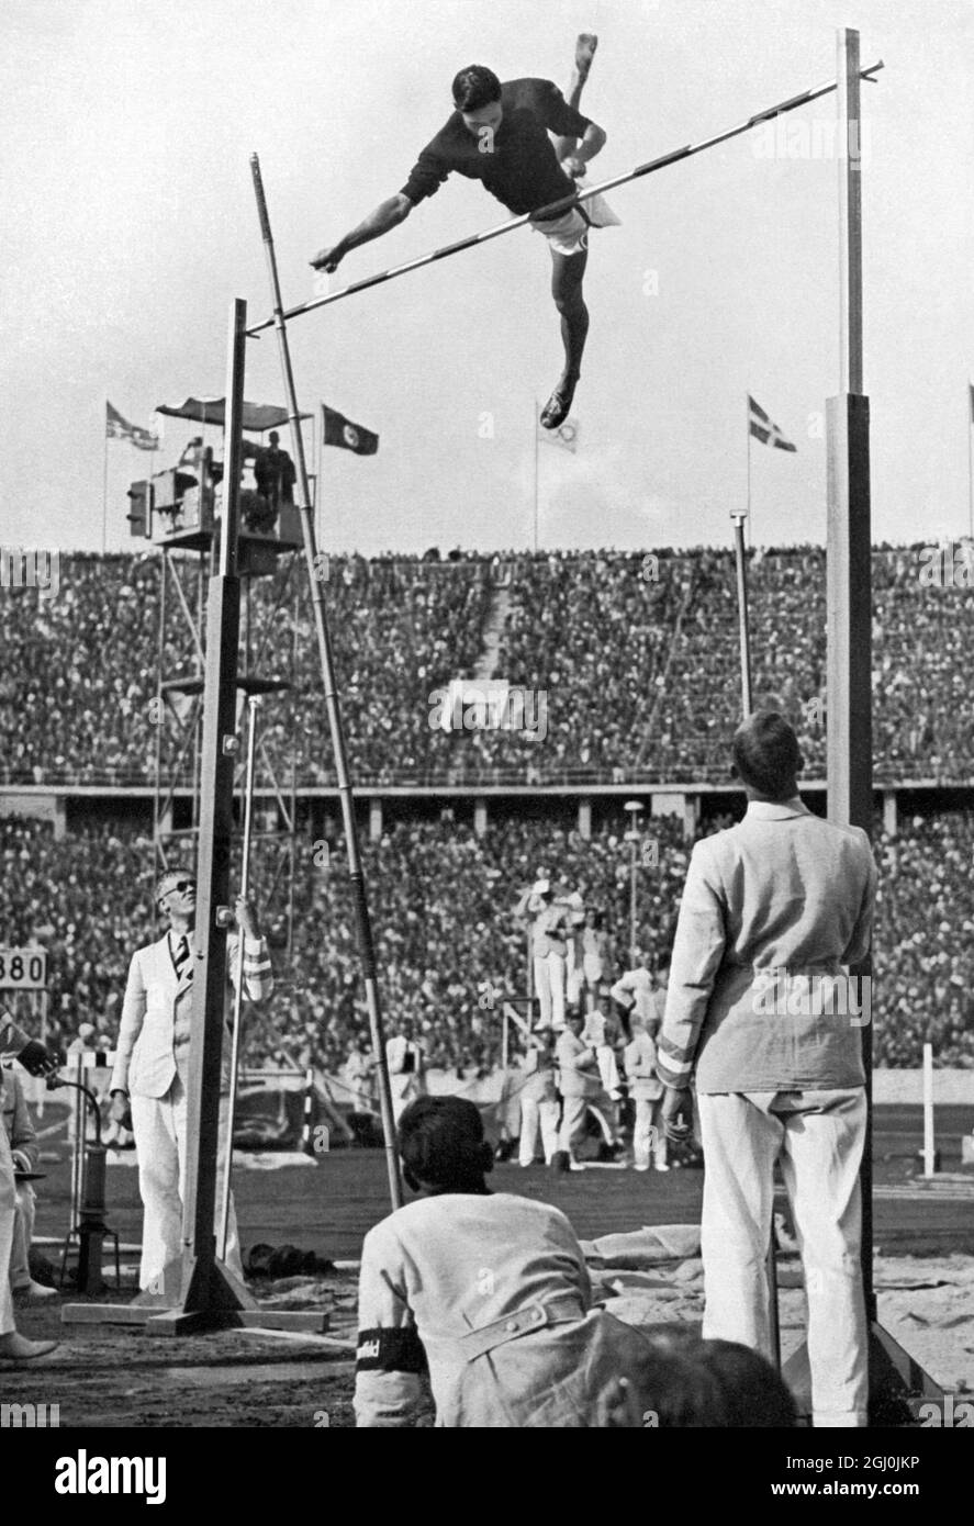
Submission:
<svg viewBox="0 0 974 1526">
<path fill-rule="evenodd" d="M 644 827 L 658 841 L 658 865 L 637 871 L 637 948 L 652 966 L 672 940 L 689 844 L 669 818 Z M 525 931 L 511 911 L 542 877 L 605 913 L 614 980 L 631 964 L 624 830 L 620 819 L 586 841 L 550 819 L 498 815 L 484 836 L 447 818 L 397 823 L 365 842 L 389 1030 L 411 1022 L 427 1062 L 461 1077 L 496 1065 L 499 1004 L 527 989 Z M 878 832 L 875 850 L 876 1064 L 918 1065 L 930 1041 L 937 1064 L 974 1068 L 974 815 L 908 818 L 895 838 Z M 298 859 L 290 966 L 285 897 L 278 891 L 263 908 L 278 989 L 250 1018 L 246 1059 L 313 1062 L 334 1074 L 368 1022 L 340 842 L 330 867 L 314 859 L 308 842 Z M 151 884 L 151 841 L 131 827 L 55 841 L 47 824 L 0 821 L 0 926 L 8 946 L 47 951 L 53 1042 L 67 1047 L 84 1022 L 114 1041 L 131 952 L 159 932 Z M 258 899 L 260 890 L 258 874 Z"/>
</svg>

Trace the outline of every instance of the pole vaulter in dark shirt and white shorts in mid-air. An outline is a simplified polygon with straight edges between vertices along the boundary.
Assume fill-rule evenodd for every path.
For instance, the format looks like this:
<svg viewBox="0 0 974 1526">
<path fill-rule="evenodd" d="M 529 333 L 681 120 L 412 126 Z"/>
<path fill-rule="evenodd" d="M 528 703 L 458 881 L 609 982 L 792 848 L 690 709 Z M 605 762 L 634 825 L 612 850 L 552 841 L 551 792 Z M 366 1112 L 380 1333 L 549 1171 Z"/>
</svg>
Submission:
<svg viewBox="0 0 974 1526">
<path fill-rule="evenodd" d="M 501 84 L 490 69 L 473 64 L 453 79 L 455 111 L 417 159 L 402 191 L 376 208 L 363 223 L 311 259 L 316 270 L 337 270 L 351 249 L 382 238 L 403 223 L 414 206 L 434 195 L 453 171 L 481 180 L 516 215 L 542 211 L 576 191 L 589 159 L 603 148 L 605 131 L 582 116 L 579 102 L 598 38 L 583 32 L 576 43 L 576 67 L 568 99 L 550 79 Z M 554 134 L 554 142 L 548 134 Z M 551 295 L 562 319 L 565 369 L 545 403 L 540 423 L 557 429 L 568 417 L 588 336 L 582 279 L 588 262 L 589 227 L 618 223 L 600 197 L 533 217 L 551 249 Z"/>
</svg>

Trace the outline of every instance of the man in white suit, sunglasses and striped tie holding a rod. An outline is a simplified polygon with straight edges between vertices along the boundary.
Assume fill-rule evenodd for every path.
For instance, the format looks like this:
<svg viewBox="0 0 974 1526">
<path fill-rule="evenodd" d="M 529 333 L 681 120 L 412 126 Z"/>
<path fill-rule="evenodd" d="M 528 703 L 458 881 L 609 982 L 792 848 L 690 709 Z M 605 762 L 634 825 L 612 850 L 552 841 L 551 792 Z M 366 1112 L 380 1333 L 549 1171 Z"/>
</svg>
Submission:
<svg viewBox="0 0 974 1526">
<path fill-rule="evenodd" d="M 157 943 L 137 949 L 128 971 L 122 1007 L 118 1058 L 111 1073 L 111 1116 L 125 1122 L 131 1112 L 139 1160 L 142 1267 L 139 1286 L 163 1291 L 163 1273 L 182 1254 L 183 1198 L 186 1183 L 186 1085 L 192 1029 L 192 978 L 195 955 L 195 876 L 171 868 L 156 884 L 156 905 L 168 919 Z M 237 923 L 243 932 L 243 989 L 250 1001 L 264 1001 L 273 990 L 267 943 L 261 935 L 252 900 L 237 897 Z M 229 942 L 229 980 L 241 978 L 240 938 Z M 217 1155 L 217 1204 L 221 1202 L 223 1169 L 229 1134 L 229 1044 L 220 1090 L 220 1143 Z M 237 1215 L 231 1198 L 226 1262 L 243 1280 Z"/>
</svg>

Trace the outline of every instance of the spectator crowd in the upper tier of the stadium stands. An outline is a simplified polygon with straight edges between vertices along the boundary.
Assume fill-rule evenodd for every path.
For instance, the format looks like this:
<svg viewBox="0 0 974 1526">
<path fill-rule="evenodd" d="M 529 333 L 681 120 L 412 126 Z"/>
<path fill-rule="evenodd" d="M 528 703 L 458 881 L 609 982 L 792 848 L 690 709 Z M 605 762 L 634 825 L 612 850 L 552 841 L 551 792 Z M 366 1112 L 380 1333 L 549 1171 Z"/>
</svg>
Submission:
<svg viewBox="0 0 974 1526">
<path fill-rule="evenodd" d="M 278 777 L 330 784 L 334 766 L 302 568 L 249 584 L 247 661 L 292 681 L 267 703 Z M 66 555 L 56 598 L 0 597 L 0 783 L 139 784 L 180 749 L 156 703 L 160 555 Z M 966 653 L 974 589 L 921 577 L 921 546 L 876 548 L 876 780 L 971 778 Z M 198 562 L 180 563 L 197 609 Z M 510 557 L 336 557 L 327 600 L 348 734 L 362 784 L 707 781 L 725 774 L 739 716 L 734 563 L 727 551 L 542 552 Z M 162 676 L 198 673 L 168 578 Z M 824 774 L 824 549 L 750 557 L 754 697 L 798 729 L 806 777 Z M 295 664 L 292 671 L 292 652 Z M 543 736 L 446 731 L 432 696 L 450 679 L 496 678 L 545 694 Z M 177 700 L 179 708 L 179 700 Z M 185 751 L 185 760 L 192 749 Z M 189 763 L 183 777 L 191 780 Z"/>
</svg>

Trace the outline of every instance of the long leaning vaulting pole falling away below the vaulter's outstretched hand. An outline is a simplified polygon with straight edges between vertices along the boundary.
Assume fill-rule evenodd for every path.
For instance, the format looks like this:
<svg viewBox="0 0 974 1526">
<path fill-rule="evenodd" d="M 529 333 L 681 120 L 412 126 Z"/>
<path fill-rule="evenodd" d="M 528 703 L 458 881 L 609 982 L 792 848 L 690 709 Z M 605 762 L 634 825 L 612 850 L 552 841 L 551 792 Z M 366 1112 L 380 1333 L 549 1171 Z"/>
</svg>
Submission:
<svg viewBox="0 0 974 1526">
<path fill-rule="evenodd" d="M 337 685 L 334 674 L 334 659 L 331 653 L 331 635 L 328 632 L 328 615 L 325 610 L 325 578 L 327 559 L 321 559 L 314 543 L 314 510 L 308 484 L 308 472 L 304 458 L 304 438 L 301 435 L 301 420 L 298 414 L 298 394 L 295 391 L 295 372 L 292 369 L 290 348 L 287 343 L 285 313 L 281 302 L 281 282 L 278 279 L 278 261 L 270 233 L 270 218 L 267 215 L 267 198 L 261 180 L 261 166 L 256 154 L 250 154 L 250 171 L 253 174 L 253 192 L 264 238 L 264 253 L 267 256 L 267 275 L 273 296 L 273 324 L 278 330 L 278 348 L 281 353 L 281 374 L 284 377 L 284 392 L 292 426 L 292 441 L 295 447 L 295 465 L 298 470 L 298 490 L 301 494 L 301 530 L 304 534 L 304 555 L 307 562 L 308 581 L 311 586 L 311 609 L 314 612 L 314 630 L 318 635 L 318 655 L 325 685 L 325 705 L 328 710 L 328 728 L 331 732 L 331 751 L 334 755 L 334 772 L 337 774 L 339 800 L 342 803 L 342 821 L 345 826 L 345 845 L 348 853 L 348 876 L 356 914 L 356 932 L 359 942 L 359 960 L 362 963 L 362 980 L 365 983 L 365 1001 L 368 1006 L 369 1030 L 373 1038 L 373 1059 L 379 1076 L 379 1109 L 382 1114 L 382 1134 L 386 1151 L 386 1170 L 389 1177 L 389 1196 L 392 1207 L 402 1207 L 403 1189 L 398 1175 L 398 1152 L 395 1149 L 395 1120 L 392 1117 L 392 1091 L 389 1087 L 389 1067 L 386 1064 L 386 1045 L 382 1030 L 382 1007 L 379 1003 L 379 986 L 376 981 L 376 949 L 373 943 L 373 925 L 368 913 L 365 894 L 365 874 L 359 853 L 359 826 L 356 821 L 351 780 L 348 777 L 348 760 L 345 755 L 345 732 L 339 710 Z"/>
</svg>

